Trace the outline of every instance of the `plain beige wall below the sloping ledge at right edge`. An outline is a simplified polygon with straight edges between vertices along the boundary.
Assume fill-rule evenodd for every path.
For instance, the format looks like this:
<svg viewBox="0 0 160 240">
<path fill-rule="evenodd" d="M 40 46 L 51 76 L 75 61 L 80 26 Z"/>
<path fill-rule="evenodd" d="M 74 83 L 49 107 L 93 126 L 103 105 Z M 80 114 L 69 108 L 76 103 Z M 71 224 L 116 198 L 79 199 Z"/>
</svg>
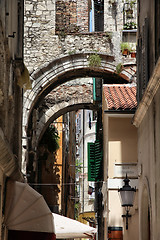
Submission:
<svg viewBox="0 0 160 240">
<path fill-rule="evenodd" d="M 138 161 L 140 240 L 160 239 L 160 88 L 139 128 Z M 145 206 L 144 206 L 145 204 Z M 148 206 L 147 206 L 148 205 Z M 148 225 L 148 209 L 150 224 Z M 144 215 L 146 217 L 144 217 Z M 150 238 L 146 229 L 150 227 Z"/>
</svg>

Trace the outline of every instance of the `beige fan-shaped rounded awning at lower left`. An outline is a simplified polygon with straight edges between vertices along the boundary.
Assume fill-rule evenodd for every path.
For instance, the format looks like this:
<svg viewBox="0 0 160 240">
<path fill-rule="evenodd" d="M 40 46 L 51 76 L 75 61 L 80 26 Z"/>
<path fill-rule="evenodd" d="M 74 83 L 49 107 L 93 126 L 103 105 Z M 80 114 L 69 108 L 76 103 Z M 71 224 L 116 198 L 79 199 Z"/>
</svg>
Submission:
<svg viewBox="0 0 160 240">
<path fill-rule="evenodd" d="M 55 233 L 53 215 L 43 196 L 21 182 L 7 184 L 5 225 L 8 230 Z"/>
</svg>

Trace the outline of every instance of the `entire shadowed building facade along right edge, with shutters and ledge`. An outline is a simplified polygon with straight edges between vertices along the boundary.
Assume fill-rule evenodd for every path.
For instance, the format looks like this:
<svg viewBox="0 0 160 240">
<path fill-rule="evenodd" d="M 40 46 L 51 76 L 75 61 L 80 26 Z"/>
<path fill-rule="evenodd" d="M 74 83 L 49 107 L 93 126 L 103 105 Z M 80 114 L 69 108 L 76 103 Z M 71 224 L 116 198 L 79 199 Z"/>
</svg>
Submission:
<svg viewBox="0 0 160 240">
<path fill-rule="evenodd" d="M 160 238 L 160 2 L 138 1 L 137 83 L 139 239 Z"/>
</svg>

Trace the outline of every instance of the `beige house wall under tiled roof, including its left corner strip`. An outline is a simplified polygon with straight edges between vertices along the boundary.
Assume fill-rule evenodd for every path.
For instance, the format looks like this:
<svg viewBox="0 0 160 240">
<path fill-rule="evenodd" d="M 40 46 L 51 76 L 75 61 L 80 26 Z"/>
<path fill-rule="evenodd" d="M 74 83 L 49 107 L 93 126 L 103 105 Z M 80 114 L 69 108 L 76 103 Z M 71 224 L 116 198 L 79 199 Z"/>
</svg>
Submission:
<svg viewBox="0 0 160 240">
<path fill-rule="evenodd" d="M 115 163 L 137 163 L 137 129 L 132 125 L 132 115 L 109 115 L 104 113 L 107 103 L 103 98 L 103 136 L 104 136 L 104 181 L 116 180 Z M 137 176 L 138 177 L 138 176 Z M 118 179 L 117 179 L 118 180 Z M 120 180 L 120 179 L 119 179 Z M 123 227 L 123 240 L 139 239 L 138 190 L 136 192 L 134 207 L 130 213 L 129 227 L 126 230 L 125 214 L 121 207 L 118 187 L 108 188 L 107 199 L 104 202 L 105 239 L 108 227 Z"/>
</svg>

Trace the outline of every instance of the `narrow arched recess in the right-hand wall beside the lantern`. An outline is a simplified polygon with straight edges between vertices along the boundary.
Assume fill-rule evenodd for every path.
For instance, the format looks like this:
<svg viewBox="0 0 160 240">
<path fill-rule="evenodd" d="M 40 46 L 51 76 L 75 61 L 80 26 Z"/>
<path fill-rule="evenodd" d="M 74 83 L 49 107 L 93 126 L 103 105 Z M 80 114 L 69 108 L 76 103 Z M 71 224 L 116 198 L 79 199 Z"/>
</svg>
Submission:
<svg viewBox="0 0 160 240">
<path fill-rule="evenodd" d="M 145 178 L 142 192 L 141 192 L 141 203 L 140 203 L 140 234 L 142 240 L 150 240 L 150 222 L 151 222 L 151 197 L 150 197 L 150 190 L 149 190 L 149 183 L 148 179 Z"/>
</svg>

